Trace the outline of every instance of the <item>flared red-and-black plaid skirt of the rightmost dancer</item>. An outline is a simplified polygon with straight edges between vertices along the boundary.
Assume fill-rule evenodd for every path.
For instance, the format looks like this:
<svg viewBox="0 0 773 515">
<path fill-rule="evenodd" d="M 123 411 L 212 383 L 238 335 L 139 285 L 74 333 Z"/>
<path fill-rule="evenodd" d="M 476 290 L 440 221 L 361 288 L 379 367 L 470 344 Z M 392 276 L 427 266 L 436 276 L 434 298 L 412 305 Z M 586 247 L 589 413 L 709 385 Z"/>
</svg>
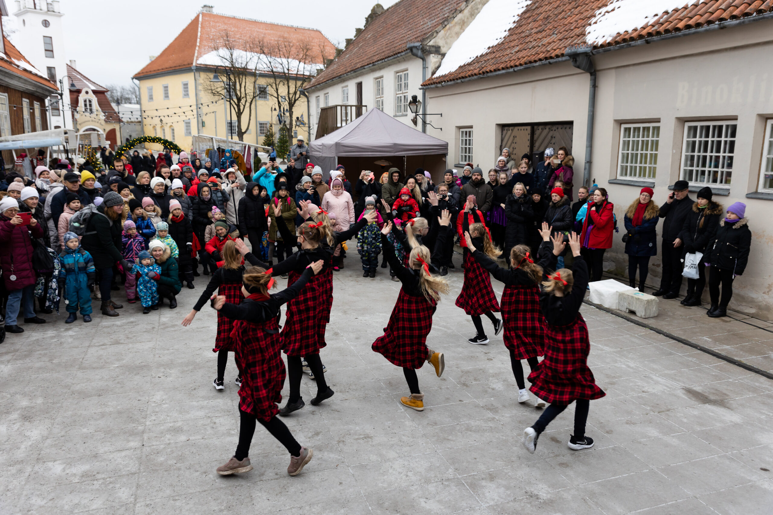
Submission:
<svg viewBox="0 0 773 515">
<path fill-rule="evenodd" d="M 568 405 L 578 398 L 602 398 L 593 372 L 587 368 L 591 341 L 580 313 L 566 326 L 545 324 L 545 359 L 529 374 L 534 395 L 550 404 Z"/>
</svg>

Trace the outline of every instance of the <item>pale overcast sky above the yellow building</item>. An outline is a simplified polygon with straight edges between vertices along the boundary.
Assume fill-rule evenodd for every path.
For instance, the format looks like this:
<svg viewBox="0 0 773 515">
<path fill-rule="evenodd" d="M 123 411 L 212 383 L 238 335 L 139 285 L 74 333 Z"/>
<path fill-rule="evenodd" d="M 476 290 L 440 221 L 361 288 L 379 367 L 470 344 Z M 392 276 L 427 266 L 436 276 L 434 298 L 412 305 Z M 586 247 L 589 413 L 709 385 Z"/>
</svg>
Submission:
<svg viewBox="0 0 773 515">
<path fill-rule="evenodd" d="M 380 3 L 387 8 L 395 2 Z M 158 56 L 205 3 L 220 14 L 320 29 L 342 47 L 365 24 L 376 0 L 61 0 L 66 57 L 97 83 L 129 84 L 149 56 Z"/>
</svg>

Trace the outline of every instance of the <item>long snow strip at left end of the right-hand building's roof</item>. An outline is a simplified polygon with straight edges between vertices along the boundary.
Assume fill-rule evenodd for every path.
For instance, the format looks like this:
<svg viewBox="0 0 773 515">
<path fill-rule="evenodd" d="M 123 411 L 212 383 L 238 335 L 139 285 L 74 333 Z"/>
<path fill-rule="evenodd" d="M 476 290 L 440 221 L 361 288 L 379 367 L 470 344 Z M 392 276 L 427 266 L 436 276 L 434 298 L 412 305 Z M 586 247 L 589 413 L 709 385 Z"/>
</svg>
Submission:
<svg viewBox="0 0 773 515">
<path fill-rule="evenodd" d="M 448 49 L 434 76 L 453 72 L 502 41 L 530 3 L 531 0 L 489 0 Z"/>
</svg>

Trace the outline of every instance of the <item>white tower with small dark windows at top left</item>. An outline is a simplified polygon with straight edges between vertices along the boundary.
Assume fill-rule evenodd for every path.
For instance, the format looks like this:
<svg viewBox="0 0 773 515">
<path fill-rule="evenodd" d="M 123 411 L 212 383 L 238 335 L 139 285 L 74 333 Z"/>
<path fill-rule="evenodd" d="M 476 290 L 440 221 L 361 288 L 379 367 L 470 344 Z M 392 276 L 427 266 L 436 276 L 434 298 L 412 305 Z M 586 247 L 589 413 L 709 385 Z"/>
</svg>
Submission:
<svg viewBox="0 0 773 515">
<path fill-rule="evenodd" d="M 60 2 L 46 0 L 14 0 L 9 2 L 15 22 L 10 39 L 19 52 L 24 54 L 32 66 L 48 76 L 49 80 L 59 86 L 59 81 L 66 75 L 66 54 L 64 31 L 62 29 L 62 12 Z M 65 77 L 69 82 L 69 78 Z M 67 90 L 64 83 L 62 91 Z M 49 97 L 46 107 L 49 112 L 49 127 L 53 129 L 73 128 L 69 107 L 70 99 L 65 95 L 64 106 L 60 106 L 60 98 Z"/>
</svg>

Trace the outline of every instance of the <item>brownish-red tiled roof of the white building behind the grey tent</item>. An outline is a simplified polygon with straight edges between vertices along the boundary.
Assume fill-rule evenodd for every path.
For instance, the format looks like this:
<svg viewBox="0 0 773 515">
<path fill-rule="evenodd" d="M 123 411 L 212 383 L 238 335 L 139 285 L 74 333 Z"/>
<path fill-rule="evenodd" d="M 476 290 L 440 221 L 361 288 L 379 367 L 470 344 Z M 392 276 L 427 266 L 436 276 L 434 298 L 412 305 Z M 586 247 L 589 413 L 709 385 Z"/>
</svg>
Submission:
<svg viewBox="0 0 773 515">
<path fill-rule="evenodd" d="M 465 0 L 400 0 L 352 39 L 308 88 L 405 52 L 408 43 L 423 41 L 465 4 Z"/>
</svg>

